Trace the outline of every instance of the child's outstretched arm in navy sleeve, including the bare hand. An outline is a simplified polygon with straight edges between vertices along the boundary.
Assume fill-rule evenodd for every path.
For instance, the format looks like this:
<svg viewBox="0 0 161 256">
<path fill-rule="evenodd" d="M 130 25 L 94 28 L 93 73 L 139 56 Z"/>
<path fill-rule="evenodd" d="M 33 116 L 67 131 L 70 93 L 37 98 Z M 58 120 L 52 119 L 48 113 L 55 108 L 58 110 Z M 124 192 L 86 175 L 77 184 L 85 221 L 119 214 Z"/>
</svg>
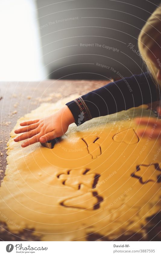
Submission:
<svg viewBox="0 0 161 256">
<path fill-rule="evenodd" d="M 14 141 L 30 138 L 22 147 L 38 141 L 49 141 L 62 136 L 73 122 L 78 126 L 94 117 L 109 115 L 156 100 L 156 86 L 148 73 L 126 77 L 68 102 L 67 106 L 53 115 L 21 123 L 21 126 L 26 127 L 15 130 L 15 133 L 25 133 L 16 137 Z"/>
</svg>

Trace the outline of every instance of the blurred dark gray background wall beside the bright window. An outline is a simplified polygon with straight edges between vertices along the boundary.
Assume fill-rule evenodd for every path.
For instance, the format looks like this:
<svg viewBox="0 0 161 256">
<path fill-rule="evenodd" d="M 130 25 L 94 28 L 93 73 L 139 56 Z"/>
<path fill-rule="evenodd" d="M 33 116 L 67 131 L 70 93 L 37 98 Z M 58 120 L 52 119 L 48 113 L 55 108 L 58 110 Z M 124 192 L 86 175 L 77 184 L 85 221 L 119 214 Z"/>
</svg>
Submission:
<svg viewBox="0 0 161 256">
<path fill-rule="evenodd" d="M 37 0 L 38 30 L 48 78 L 106 79 L 145 71 L 133 50 L 138 50 L 140 30 L 159 3 Z"/>
</svg>

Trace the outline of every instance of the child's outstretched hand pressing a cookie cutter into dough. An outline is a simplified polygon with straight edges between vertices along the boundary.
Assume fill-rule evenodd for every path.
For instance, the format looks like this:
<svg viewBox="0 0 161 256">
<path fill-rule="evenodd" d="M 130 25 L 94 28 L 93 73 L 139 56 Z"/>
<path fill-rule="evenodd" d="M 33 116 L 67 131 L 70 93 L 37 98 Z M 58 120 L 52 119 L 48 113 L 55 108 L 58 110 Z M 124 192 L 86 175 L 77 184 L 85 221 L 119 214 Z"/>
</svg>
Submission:
<svg viewBox="0 0 161 256">
<path fill-rule="evenodd" d="M 42 119 L 20 123 L 21 126 L 25 127 L 17 129 L 14 132 L 16 134 L 23 134 L 16 137 L 14 141 L 17 142 L 28 139 L 21 145 L 22 147 L 27 147 L 39 141 L 43 143 L 62 136 L 68 130 L 68 126 L 73 122 L 75 122 L 75 120 L 70 109 L 68 106 L 64 106 L 54 114 L 48 115 Z"/>
</svg>

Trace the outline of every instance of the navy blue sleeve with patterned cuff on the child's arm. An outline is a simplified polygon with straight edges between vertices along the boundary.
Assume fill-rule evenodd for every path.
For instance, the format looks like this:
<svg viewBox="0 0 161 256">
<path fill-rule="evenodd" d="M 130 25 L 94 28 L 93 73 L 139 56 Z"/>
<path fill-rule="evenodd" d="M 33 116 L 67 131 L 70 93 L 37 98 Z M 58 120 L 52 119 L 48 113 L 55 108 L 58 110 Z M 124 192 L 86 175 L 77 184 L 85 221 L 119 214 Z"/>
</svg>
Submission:
<svg viewBox="0 0 161 256">
<path fill-rule="evenodd" d="M 132 75 L 109 83 L 66 103 L 77 126 L 94 117 L 113 114 L 158 99 L 159 93 L 149 73 Z"/>
</svg>

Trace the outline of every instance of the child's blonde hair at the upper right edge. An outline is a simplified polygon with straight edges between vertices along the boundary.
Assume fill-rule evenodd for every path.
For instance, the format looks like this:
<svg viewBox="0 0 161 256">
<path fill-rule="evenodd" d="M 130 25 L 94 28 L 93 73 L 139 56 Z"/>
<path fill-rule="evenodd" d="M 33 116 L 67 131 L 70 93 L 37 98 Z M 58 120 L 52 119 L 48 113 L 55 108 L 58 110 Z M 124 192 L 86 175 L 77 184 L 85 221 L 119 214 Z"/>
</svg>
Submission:
<svg viewBox="0 0 161 256">
<path fill-rule="evenodd" d="M 147 66 L 147 70 L 150 72 L 156 87 L 161 88 L 161 81 L 156 78 L 157 68 L 147 54 L 157 45 L 161 51 L 161 5 L 148 18 L 138 37 L 138 48 Z"/>
</svg>

